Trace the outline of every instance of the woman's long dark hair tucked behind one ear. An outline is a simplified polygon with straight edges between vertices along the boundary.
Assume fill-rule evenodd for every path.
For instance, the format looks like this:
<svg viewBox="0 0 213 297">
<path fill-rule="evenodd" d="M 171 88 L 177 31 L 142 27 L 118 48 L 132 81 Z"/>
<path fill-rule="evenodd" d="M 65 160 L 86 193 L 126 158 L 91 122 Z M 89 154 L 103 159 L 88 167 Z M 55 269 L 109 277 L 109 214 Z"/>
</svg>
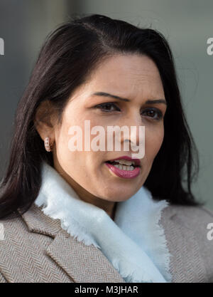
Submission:
<svg viewBox="0 0 213 297">
<path fill-rule="evenodd" d="M 151 28 L 92 14 L 77 16 L 46 38 L 23 97 L 16 110 L 9 166 L 1 182 L 0 218 L 31 207 L 41 184 L 41 162 L 53 166 L 35 129 L 35 110 L 50 100 L 58 110 L 58 123 L 67 100 L 104 58 L 114 53 L 139 53 L 158 67 L 168 110 L 163 145 L 155 157 L 145 186 L 155 199 L 171 204 L 197 205 L 191 192 L 198 172 L 198 154 L 182 110 L 173 54 L 164 36 Z M 185 177 L 186 185 L 182 184 Z"/>
</svg>

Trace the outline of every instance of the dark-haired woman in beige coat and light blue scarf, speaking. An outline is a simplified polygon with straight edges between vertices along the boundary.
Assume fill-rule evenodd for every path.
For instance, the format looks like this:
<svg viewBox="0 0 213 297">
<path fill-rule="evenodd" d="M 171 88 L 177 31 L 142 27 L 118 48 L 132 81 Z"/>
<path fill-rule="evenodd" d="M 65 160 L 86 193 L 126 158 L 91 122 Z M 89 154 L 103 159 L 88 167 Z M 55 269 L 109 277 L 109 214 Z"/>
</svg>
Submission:
<svg viewBox="0 0 213 297">
<path fill-rule="evenodd" d="M 97 14 L 60 26 L 15 124 L 2 282 L 213 281 L 213 214 L 191 192 L 197 151 L 158 31 Z M 131 131 L 120 150 L 99 150 L 115 126 Z"/>
</svg>

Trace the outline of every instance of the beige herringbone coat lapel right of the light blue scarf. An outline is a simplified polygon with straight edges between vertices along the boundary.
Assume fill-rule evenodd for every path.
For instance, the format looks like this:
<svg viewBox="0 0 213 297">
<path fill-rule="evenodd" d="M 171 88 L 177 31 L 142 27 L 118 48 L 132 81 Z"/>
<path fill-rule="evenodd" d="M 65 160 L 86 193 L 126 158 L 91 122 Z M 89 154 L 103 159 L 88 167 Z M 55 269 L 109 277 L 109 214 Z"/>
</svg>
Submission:
<svg viewBox="0 0 213 297">
<path fill-rule="evenodd" d="M 205 282 L 207 272 L 195 233 L 178 216 L 175 206 L 163 209 L 160 223 L 163 225 L 167 246 L 172 255 L 170 259 L 172 282 Z"/>
</svg>

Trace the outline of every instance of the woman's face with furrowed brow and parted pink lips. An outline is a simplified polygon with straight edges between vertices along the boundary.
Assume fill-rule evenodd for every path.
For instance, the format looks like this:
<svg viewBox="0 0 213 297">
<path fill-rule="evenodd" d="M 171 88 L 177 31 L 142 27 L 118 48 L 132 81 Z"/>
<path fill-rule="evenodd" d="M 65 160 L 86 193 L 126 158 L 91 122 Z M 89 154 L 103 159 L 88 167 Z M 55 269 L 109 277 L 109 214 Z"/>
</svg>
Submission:
<svg viewBox="0 0 213 297">
<path fill-rule="evenodd" d="M 110 96 L 92 95 L 108 93 Z M 147 103 L 152 100 L 152 103 Z M 161 100 L 162 102 L 158 102 Z M 108 103 L 108 104 L 107 104 Z M 143 185 L 151 170 L 153 160 L 163 142 L 166 102 L 163 84 L 155 63 L 147 56 L 126 54 L 107 58 L 96 68 L 86 84 L 72 94 L 62 115 L 62 125 L 55 127 L 53 150 L 55 169 L 74 189 L 84 195 L 94 195 L 111 202 L 129 199 Z M 90 121 L 90 130 L 102 126 L 106 132 L 106 150 L 70 150 L 70 127 L 82 130 L 84 143 L 84 120 Z M 133 178 L 114 174 L 106 161 L 115 160 L 136 152 L 124 150 L 121 133 L 121 150 L 107 151 L 107 126 L 136 126 L 136 142 L 139 144 L 139 126 L 145 126 L 145 155 L 141 158 L 139 174 Z M 131 134 L 132 135 L 132 134 Z M 90 135 L 90 143 L 97 135 Z M 75 142 L 76 144 L 77 142 Z"/>
</svg>

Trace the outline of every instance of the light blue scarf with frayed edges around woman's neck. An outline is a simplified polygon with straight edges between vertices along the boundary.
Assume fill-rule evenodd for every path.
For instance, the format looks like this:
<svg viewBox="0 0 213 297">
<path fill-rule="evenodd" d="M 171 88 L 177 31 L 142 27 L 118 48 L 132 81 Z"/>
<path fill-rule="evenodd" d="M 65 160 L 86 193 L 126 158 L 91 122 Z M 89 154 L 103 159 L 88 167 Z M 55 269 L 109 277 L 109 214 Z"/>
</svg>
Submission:
<svg viewBox="0 0 213 297">
<path fill-rule="evenodd" d="M 43 162 L 35 204 L 78 241 L 101 249 L 126 282 L 170 282 L 170 253 L 158 224 L 168 202 L 156 202 L 146 187 L 118 202 L 114 221 L 103 209 L 82 201 L 58 172 Z"/>
</svg>

